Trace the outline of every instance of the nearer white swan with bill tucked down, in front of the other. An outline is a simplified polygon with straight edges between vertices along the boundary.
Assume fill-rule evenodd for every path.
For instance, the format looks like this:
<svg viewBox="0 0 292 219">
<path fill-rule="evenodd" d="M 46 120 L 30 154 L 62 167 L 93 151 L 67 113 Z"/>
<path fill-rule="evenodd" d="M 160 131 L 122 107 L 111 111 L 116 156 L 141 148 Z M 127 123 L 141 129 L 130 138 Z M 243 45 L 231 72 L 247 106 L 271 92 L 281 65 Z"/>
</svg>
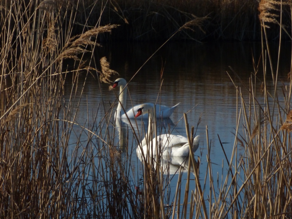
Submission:
<svg viewBox="0 0 292 219">
<path fill-rule="evenodd" d="M 152 116 L 149 117 L 149 123 L 148 123 L 148 130 L 145 138 L 142 140 L 141 144 L 137 147 L 137 153 L 142 154 L 142 151 L 144 154 L 149 154 L 150 156 L 156 155 L 155 150 L 155 138 L 152 140 L 152 138 L 149 138 L 148 135 L 151 135 L 151 131 L 154 131 L 152 122 L 153 117 L 153 107 L 150 104 L 142 104 L 141 108 L 138 109 L 138 113 L 136 114 L 136 117 L 146 113 L 150 112 Z M 152 136 L 153 137 L 153 136 Z M 147 146 L 146 141 L 150 141 L 148 145 L 152 145 L 151 147 Z M 189 142 L 186 137 L 182 135 L 172 135 L 172 134 L 162 134 L 157 136 L 158 144 L 161 146 L 162 154 L 163 156 L 178 156 L 178 157 L 186 157 L 189 155 L 190 147 Z M 193 145 L 192 145 L 192 152 L 195 152 L 200 143 L 200 136 L 197 135 L 194 138 Z"/>
</svg>

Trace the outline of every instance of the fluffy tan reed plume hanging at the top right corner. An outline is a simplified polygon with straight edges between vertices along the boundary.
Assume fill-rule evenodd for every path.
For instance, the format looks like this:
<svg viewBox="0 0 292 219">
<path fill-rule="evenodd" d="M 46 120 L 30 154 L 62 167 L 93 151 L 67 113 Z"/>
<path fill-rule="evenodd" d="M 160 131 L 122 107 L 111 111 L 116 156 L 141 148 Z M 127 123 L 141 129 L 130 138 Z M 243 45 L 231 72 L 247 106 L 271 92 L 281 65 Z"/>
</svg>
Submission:
<svg viewBox="0 0 292 219">
<path fill-rule="evenodd" d="M 264 25 L 264 22 L 277 23 L 277 20 L 275 18 L 278 17 L 278 15 L 270 13 L 270 11 L 279 11 L 279 8 L 277 8 L 277 5 L 279 4 L 281 4 L 281 2 L 275 0 L 260 1 L 258 5 L 258 11 L 260 12 L 259 18 L 262 21 L 263 26 L 269 27 L 267 25 Z"/>
</svg>

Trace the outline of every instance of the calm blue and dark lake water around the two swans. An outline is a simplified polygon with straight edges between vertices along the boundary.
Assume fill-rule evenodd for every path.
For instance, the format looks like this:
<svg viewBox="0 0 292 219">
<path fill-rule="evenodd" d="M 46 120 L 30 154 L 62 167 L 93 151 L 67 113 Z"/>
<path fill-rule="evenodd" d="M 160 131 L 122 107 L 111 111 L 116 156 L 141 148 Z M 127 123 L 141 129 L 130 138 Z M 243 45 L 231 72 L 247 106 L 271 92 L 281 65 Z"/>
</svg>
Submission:
<svg viewBox="0 0 292 219">
<path fill-rule="evenodd" d="M 103 48 L 98 51 L 96 60 L 106 56 L 110 62 L 111 69 L 119 72 L 117 78 L 121 77 L 129 81 L 160 45 L 153 43 L 114 43 L 111 45 L 103 45 Z M 273 65 L 276 67 L 277 45 L 272 45 L 270 49 L 274 56 L 272 58 Z M 291 60 L 290 52 L 291 44 L 282 46 L 283 55 L 281 55 L 279 78 L 284 83 L 288 83 L 287 75 L 290 72 Z M 227 158 L 230 159 L 232 156 L 231 153 L 234 145 L 233 133 L 235 133 L 237 113 L 239 113 L 237 112 L 237 101 L 239 101 L 239 104 L 240 99 L 237 99 L 235 86 L 227 72 L 231 75 L 234 82 L 241 87 L 243 93 L 246 94 L 246 98 L 248 98 L 248 93 L 239 79 L 234 76 L 229 66 L 248 85 L 249 77 L 254 73 L 253 57 L 255 63 L 258 63 L 260 55 L 260 43 L 218 42 L 214 44 L 195 44 L 190 42 L 174 42 L 166 44 L 140 69 L 129 83 L 128 90 L 131 99 L 128 95 L 126 109 L 132 103 L 133 105 L 143 102 L 155 103 L 157 97 L 159 98 L 158 102 L 166 106 L 173 106 L 180 102 L 180 105 L 170 117 L 172 121 L 171 129 L 173 129 L 172 133 L 179 133 L 185 136 L 186 131 L 183 113 L 187 113 L 190 126 L 195 127 L 201 115 L 201 123 L 197 130 L 197 135 L 200 135 L 201 141 L 199 149 L 195 152 L 195 156 L 201 158 L 200 179 L 201 182 L 204 182 L 207 170 L 206 126 L 208 127 L 209 142 L 211 142 L 210 159 L 213 164 L 214 176 L 217 176 L 217 172 L 219 172 L 219 175 L 222 174 L 222 161 L 224 161 L 225 165 L 223 169 L 226 170 L 227 168 L 227 162 L 220 146 L 218 135 L 221 141 L 224 142 L 223 146 Z M 161 69 L 163 69 L 162 86 L 160 79 Z M 261 68 L 259 68 L 257 75 L 262 80 L 263 70 Z M 267 78 L 268 86 L 272 88 L 272 79 L 269 72 Z M 84 79 L 81 78 L 79 83 L 82 85 Z M 68 82 L 66 86 L 66 95 L 68 98 L 72 88 L 71 84 L 71 82 Z M 100 105 L 97 118 L 97 121 L 99 121 L 104 117 L 105 111 L 109 109 L 109 103 L 113 103 L 114 101 L 117 103 L 115 93 L 118 95 L 119 89 L 116 88 L 109 91 L 108 88 L 109 85 L 106 84 L 101 84 L 99 87 L 98 81 L 93 77 L 90 77 L 86 81 L 76 119 L 79 124 L 90 124 L 92 122 L 90 119 L 92 116 L 88 118 L 87 109 L 89 111 L 92 110 L 93 114 L 95 114 Z M 281 87 L 279 86 L 280 90 Z M 240 131 L 242 131 L 242 124 L 243 120 L 241 118 L 239 125 Z M 76 139 L 72 137 L 72 145 L 74 145 Z M 87 136 L 84 139 L 87 139 Z M 244 148 L 241 150 L 239 148 L 238 158 L 241 153 L 244 153 Z M 135 159 L 137 156 L 135 150 L 132 156 L 132 168 L 141 169 L 142 163 L 139 159 Z M 174 168 L 178 167 L 175 166 Z M 136 173 L 135 171 L 133 172 Z M 142 172 L 140 173 L 142 174 Z M 134 177 L 138 178 L 140 176 L 137 174 Z M 186 178 L 186 175 L 183 178 Z M 221 177 L 219 177 L 219 180 L 220 184 Z M 173 177 L 172 183 L 175 188 L 177 176 Z M 206 187 L 208 188 L 208 185 Z M 190 189 L 193 190 L 194 187 L 191 185 Z"/>
</svg>

